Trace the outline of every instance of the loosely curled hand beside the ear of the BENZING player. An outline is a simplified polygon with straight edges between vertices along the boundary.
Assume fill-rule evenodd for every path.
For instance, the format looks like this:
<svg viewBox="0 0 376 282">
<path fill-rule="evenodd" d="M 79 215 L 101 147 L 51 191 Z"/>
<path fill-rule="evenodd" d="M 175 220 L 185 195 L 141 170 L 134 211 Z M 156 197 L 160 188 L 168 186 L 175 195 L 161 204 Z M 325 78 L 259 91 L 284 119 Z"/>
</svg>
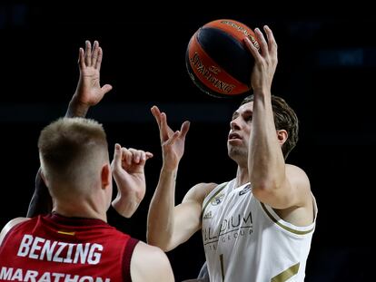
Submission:
<svg viewBox="0 0 376 282">
<path fill-rule="evenodd" d="M 143 200 L 146 190 L 144 165 L 153 158 L 149 151 L 122 148 L 115 144 L 111 169 L 117 186 L 114 209 L 126 218 L 131 217 Z"/>
</svg>

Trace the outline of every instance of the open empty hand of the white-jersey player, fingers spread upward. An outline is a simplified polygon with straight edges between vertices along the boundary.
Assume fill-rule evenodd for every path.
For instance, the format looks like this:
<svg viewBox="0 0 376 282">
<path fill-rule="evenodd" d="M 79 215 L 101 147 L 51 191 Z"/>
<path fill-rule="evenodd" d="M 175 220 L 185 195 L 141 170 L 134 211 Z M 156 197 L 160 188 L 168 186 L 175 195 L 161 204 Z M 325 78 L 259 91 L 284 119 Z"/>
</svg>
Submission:
<svg viewBox="0 0 376 282">
<path fill-rule="evenodd" d="M 163 151 L 163 169 L 175 170 L 183 157 L 185 136 L 189 131 L 190 122 L 183 122 L 180 131 L 173 131 L 167 124 L 167 116 L 157 106 L 151 109 L 158 123 Z"/>
</svg>

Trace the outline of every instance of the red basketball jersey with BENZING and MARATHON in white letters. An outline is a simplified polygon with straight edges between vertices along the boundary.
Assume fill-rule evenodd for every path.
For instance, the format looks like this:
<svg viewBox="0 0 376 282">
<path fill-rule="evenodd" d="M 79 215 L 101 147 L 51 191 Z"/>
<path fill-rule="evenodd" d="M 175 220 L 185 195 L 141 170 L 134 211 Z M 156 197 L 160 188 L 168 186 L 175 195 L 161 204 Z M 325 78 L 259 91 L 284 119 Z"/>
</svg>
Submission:
<svg viewBox="0 0 376 282">
<path fill-rule="evenodd" d="M 132 281 L 138 240 L 100 219 L 38 216 L 11 229 L 0 246 L 0 281 Z"/>
</svg>

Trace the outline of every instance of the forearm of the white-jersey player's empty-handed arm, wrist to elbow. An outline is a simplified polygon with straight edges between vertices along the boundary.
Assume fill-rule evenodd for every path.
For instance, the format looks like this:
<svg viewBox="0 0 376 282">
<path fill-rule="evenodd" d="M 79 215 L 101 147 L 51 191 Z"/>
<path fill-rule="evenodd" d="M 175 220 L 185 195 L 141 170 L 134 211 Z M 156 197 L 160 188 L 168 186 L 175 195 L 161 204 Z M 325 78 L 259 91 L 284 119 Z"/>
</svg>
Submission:
<svg viewBox="0 0 376 282">
<path fill-rule="evenodd" d="M 169 248 L 173 238 L 176 172 L 161 170 L 147 218 L 147 241 L 163 250 Z"/>
</svg>

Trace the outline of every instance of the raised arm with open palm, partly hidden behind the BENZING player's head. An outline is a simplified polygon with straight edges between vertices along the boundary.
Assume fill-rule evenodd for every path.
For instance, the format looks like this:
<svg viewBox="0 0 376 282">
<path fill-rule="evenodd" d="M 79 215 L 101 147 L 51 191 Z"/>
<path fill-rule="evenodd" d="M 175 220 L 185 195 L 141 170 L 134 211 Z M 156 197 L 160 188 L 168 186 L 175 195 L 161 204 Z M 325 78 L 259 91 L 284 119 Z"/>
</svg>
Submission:
<svg viewBox="0 0 376 282">
<path fill-rule="evenodd" d="M 93 48 L 89 41 L 85 42 L 85 50 L 79 49 L 78 66 L 80 78 L 74 95 L 65 113 L 67 117 L 84 117 L 91 106 L 100 102 L 104 94 L 112 89 L 110 84 L 101 87 L 100 70 L 103 51 L 97 41 Z M 45 182 L 41 178 L 40 169 L 35 177 L 35 191 L 27 210 L 27 217 L 45 214 L 52 210 L 53 202 Z"/>
</svg>

